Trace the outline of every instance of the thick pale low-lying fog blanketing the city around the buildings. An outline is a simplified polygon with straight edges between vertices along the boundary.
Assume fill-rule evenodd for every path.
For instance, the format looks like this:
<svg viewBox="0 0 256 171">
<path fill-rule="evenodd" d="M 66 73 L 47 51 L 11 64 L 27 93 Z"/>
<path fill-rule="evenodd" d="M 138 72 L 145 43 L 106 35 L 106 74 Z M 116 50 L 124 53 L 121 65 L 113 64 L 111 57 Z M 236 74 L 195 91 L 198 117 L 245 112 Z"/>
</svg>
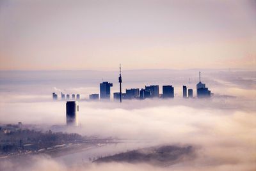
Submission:
<svg viewBox="0 0 256 171">
<path fill-rule="evenodd" d="M 90 74 L 90 72 L 92 72 Z M 65 74 L 65 75 L 64 75 Z M 72 77 L 72 74 L 75 74 Z M 176 74 L 176 76 L 175 76 Z M 168 76 L 169 75 L 169 76 Z M 145 140 L 156 145 L 192 145 L 196 157 L 168 168 L 148 164 L 104 163 L 73 165 L 49 156 L 35 156 L 21 170 L 255 170 L 255 71 L 202 73 L 202 82 L 215 94 L 211 100 L 182 99 L 181 86 L 194 89 L 197 71 L 124 71 L 124 89 L 148 84 L 174 85 L 173 100 L 79 101 L 79 130 L 83 135 Z M 49 76 L 49 77 L 47 77 Z M 54 78 L 57 77 L 58 78 Z M 65 124 L 65 101 L 52 101 L 51 93 L 99 93 L 99 82 L 113 82 L 118 73 L 52 71 L 52 73 L 1 72 L 0 123 Z M 134 79 L 132 79 L 134 77 Z M 191 82 L 188 83 L 189 78 Z M 218 98 L 219 95 L 236 98 Z M 78 159 L 77 159 L 78 160 Z M 0 170 L 19 170 L 4 162 Z"/>
</svg>

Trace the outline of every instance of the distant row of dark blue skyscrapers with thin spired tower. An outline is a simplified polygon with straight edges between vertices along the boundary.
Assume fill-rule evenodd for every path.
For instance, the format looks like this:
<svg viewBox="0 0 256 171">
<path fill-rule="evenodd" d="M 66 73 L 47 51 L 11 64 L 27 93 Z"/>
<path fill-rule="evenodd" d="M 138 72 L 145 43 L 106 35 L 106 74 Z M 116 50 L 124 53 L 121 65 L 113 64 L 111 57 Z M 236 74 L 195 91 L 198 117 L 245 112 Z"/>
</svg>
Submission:
<svg viewBox="0 0 256 171">
<path fill-rule="evenodd" d="M 201 71 L 199 71 L 199 82 L 196 84 L 196 98 L 210 98 L 214 93 L 205 87 L 205 84 L 201 82 Z M 145 85 L 145 89 L 132 87 L 131 89 L 127 89 L 125 87 L 125 93 L 122 93 L 122 76 L 121 76 L 121 64 L 119 68 L 119 92 L 111 93 L 111 87 L 113 87 L 113 83 L 111 82 L 102 82 L 100 83 L 100 90 L 99 93 L 89 94 L 88 98 L 84 98 L 84 100 L 119 100 L 122 103 L 122 99 L 124 100 L 144 100 L 145 98 L 174 98 L 177 96 L 177 93 L 174 91 L 173 85 L 162 85 L 163 91 L 162 93 L 159 92 L 159 85 Z M 189 82 L 190 84 L 190 78 Z M 193 89 L 191 85 L 190 88 L 187 88 L 187 85 L 183 85 L 182 87 L 182 97 L 183 98 L 194 98 L 193 96 Z M 193 86 L 192 86 L 193 87 Z M 188 91 L 188 93 L 187 93 Z M 113 96 L 111 96 L 113 94 Z M 223 94 L 222 94 L 223 95 Z M 67 99 L 65 99 L 65 94 L 61 91 L 61 100 L 69 100 L 69 94 Z M 73 97 L 74 96 L 74 97 Z M 75 94 L 72 94 L 72 100 L 80 100 L 80 94 L 77 94 L 79 98 L 75 98 Z M 113 98 L 112 98 L 113 97 Z M 234 96 L 230 96 L 234 97 Z M 58 94 L 55 92 L 52 93 L 52 100 L 58 100 Z"/>
</svg>

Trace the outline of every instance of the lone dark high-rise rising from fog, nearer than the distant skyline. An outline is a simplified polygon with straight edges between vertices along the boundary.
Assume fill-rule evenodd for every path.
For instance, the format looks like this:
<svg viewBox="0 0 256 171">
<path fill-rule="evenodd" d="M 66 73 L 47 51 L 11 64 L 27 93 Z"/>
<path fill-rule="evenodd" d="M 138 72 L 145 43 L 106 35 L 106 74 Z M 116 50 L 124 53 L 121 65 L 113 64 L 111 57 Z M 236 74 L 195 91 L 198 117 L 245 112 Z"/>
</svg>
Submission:
<svg viewBox="0 0 256 171">
<path fill-rule="evenodd" d="M 78 126 L 77 112 L 79 111 L 79 106 L 77 101 L 67 101 L 66 103 L 66 117 L 67 126 Z"/>
</svg>

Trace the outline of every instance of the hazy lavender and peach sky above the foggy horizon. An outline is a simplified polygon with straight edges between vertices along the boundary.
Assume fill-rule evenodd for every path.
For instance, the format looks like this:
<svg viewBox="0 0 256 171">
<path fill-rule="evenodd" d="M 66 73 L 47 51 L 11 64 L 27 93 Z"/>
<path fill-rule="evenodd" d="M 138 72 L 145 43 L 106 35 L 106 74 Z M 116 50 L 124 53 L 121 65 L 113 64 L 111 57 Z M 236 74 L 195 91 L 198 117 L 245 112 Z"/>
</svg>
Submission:
<svg viewBox="0 0 256 171">
<path fill-rule="evenodd" d="M 256 1 L 0 1 L 0 70 L 256 66 Z"/>
</svg>

